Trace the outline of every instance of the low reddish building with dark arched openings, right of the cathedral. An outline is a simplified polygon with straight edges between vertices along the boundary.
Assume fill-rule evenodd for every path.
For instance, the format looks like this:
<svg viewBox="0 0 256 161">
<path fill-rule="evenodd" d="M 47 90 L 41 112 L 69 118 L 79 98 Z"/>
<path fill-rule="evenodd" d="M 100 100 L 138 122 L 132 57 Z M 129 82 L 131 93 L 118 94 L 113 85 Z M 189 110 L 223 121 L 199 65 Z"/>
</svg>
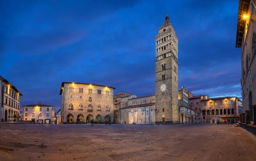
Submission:
<svg viewBox="0 0 256 161">
<path fill-rule="evenodd" d="M 239 121 L 239 102 L 242 101 L 237 97 L 209 98 L 208 95 L 194 96 L 189 99 L 192 109 L 195 109 L 197 123 Z"/>
</svg>

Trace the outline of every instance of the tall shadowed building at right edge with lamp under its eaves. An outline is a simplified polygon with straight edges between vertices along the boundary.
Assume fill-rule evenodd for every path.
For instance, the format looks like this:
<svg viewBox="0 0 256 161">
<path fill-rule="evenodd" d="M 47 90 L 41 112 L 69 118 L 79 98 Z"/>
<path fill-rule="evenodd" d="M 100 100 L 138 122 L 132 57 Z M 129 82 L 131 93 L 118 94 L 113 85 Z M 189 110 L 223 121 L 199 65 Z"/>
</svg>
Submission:
<svg viewBox="0 0 256 161">
<path fill-rule="evenodd" d="M 256 7 L 255 0 L 240 0 L 236 32 L 236 48 L 241 48 L 242 113 L 246 122 L 256 124 L 253 105 L 256 106 Z M 248 115 L 249 112 L 249 115 Z M 254 110 L 256 112 L 256 108 Z"/>
</svg>

